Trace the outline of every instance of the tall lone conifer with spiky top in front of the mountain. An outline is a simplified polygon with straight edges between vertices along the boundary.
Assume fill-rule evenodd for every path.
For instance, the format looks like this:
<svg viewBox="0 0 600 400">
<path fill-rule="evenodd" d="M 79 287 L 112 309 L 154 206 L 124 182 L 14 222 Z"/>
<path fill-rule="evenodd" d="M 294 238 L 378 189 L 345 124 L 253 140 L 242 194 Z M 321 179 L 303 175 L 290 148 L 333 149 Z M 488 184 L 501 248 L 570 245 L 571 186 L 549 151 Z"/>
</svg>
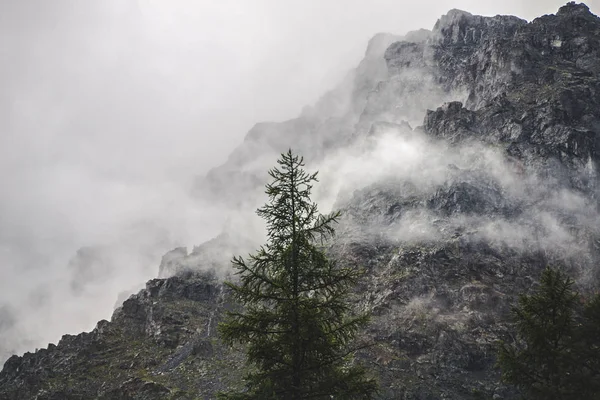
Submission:
<svg viewBox="0 0 600 400">
<path fill-rule="evenodd" d="M 354 339 L 367 315 L 348 302 L 360 271 L 328 259 L 323 244 L 339 212 L 321 215 L 311 201 L 317 173 L 303 159 L 282 154 L 269 171 L 269 201 L 257 214 L 267 243 L 246 261 L 233 259 L 238 283 L 228 282 L 243 311 L 228 313 L 219 330 L 225 343 L 246 346 L 246 388 L 227 399 L 370 399 L 373 379 L 353 360 Z"/>
</svg>

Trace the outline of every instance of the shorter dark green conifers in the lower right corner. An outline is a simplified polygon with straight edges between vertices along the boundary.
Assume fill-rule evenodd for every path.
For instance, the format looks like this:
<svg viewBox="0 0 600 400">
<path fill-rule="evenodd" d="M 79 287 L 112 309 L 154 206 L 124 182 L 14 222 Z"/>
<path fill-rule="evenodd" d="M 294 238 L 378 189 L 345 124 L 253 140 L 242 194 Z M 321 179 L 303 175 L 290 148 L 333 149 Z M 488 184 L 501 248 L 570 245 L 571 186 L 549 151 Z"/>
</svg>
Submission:
<svg viewBox="0 0 600 400">
<path fill-rule="evenodd" d="M 548 268 L 513 317 L 517 340 L 499 350 L 506 382 L 527 399 L 600 399 L 600 296 L 586 302 L 569 277 Z"/>
</svg>

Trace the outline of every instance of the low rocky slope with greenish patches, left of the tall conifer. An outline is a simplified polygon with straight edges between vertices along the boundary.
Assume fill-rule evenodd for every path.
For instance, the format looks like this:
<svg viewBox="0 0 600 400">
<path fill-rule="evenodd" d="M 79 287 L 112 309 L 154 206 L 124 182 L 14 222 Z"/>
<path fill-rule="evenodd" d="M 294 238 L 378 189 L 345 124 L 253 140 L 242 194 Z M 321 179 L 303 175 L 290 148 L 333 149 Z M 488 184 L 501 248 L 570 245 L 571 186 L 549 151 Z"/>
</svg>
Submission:
<svg viewBox="0 0 600 400">
<path fill-rule="evenodd" d="M 211 398 L 238 369 L 239 356 L 215 341 L 224 299 L 214 276 L 154 279 L 91 332 L 9 358 L 0 398 Z"/>
</svg>

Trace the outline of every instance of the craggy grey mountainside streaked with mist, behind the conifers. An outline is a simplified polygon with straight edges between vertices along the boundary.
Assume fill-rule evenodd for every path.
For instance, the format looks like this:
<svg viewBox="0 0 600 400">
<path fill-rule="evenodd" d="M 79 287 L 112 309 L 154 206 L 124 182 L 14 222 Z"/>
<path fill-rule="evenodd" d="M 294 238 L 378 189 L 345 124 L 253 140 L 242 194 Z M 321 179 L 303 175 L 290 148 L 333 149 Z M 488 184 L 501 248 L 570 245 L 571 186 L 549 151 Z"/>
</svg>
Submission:
<svg viewBox="0 0 600 400">
<path fill-rule="evenodd" d="M 222 279 L 261 243 L 248 221 L 289 147 L 320 171 L 322 211 L 343 212 L 329 254 L 367 271 L 354 301 L 374 346 L 358 359 L 382 399 L 518 398 L 495 367 L 518 295 L 547 265 L 584 292 L 600 286 L 600 18 L 573 2 L 531 22 L 452 10 L 431 31 L 376 35 L 317 104 L 253 127 L 195 183 L 232 210 L 225 231 L 167 253 L 110 321 L 9 358 L 0 398 L 212 399 L 241 386 L 243 352 L 216 331 L 236 307 Z"/>
</svg>

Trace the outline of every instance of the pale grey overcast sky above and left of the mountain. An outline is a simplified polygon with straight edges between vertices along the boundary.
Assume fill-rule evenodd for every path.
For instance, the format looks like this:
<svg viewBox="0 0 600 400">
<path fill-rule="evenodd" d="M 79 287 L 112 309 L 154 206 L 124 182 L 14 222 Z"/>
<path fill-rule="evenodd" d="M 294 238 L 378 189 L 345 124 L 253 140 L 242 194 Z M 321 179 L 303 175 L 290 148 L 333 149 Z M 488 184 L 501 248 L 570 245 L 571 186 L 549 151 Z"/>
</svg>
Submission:
<svg viewBox="0 0 600 400">
<path fill-rule="evenodd" d="M 314 102 L 375 33 L 430 29 L 451 8 L 532 19 L 564 3 L 0 0 L 0 305 L 62 278 L 80 246 L 131 239 L 139 221 L 167 231 L 142 247 L 210 237 L 218 223 L 187 197 L 193 175 L 255 122 Z M 148 276 L 153 257 L 140 261 Z"/>
</svg>

